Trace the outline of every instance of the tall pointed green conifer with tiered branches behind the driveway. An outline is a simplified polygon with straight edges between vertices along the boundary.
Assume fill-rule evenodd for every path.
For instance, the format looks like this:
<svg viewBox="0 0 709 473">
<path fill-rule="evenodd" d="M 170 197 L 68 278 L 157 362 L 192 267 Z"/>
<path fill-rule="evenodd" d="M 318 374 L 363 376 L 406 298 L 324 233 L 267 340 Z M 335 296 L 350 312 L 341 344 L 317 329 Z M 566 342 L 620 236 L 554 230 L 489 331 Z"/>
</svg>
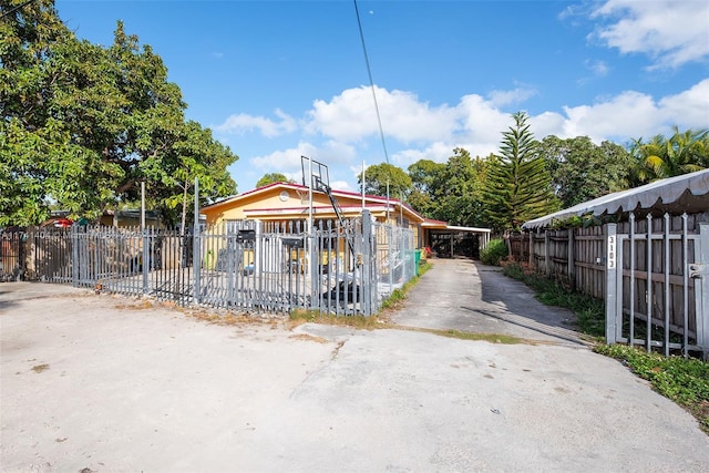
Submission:
<svg viewBox="0 0 709 473">
<path fill-rule="evenodd" d="M 502 134 L 500 154 L 491 160 L 482 192 L 486 219 L 497 232 L 517 230 L 526 220 L 558 208 L 526 113 L 512 117 L 514 125 Z"/>
</svg>

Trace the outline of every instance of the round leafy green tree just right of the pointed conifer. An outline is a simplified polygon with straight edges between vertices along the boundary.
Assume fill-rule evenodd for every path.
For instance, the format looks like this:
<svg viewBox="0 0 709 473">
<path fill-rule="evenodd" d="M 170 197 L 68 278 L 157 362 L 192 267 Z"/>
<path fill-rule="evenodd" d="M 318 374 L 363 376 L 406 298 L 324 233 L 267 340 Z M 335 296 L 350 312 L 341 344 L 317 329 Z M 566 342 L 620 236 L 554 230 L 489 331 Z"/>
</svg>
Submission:
<svg viewBox="0 0 709 473">
<path fill-rule="evenodd" d="M 630 155 L 620 145 L 607 141 L 596 145 L 588 136 L 551 135 L 542 140 L 538 152 L 564 208 L 628 188 Z"/>
</svg>

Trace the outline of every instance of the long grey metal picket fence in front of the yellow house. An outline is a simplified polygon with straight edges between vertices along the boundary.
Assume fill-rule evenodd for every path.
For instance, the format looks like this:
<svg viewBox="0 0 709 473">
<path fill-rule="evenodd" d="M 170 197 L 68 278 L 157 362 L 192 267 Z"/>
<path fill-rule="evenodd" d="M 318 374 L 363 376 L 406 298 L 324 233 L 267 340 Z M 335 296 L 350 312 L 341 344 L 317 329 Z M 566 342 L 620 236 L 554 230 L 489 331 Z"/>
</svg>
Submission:
<svg viewBox="0 0 709 473">
<path fill-rule="evenodd" d="M 2 234 L 3 280 L 65 282 L 179 305 L 372 315 L 415 275 L 413 232 L 372 222 L 227 220 L 195 234 L 73 226 Z"/>
</svg>

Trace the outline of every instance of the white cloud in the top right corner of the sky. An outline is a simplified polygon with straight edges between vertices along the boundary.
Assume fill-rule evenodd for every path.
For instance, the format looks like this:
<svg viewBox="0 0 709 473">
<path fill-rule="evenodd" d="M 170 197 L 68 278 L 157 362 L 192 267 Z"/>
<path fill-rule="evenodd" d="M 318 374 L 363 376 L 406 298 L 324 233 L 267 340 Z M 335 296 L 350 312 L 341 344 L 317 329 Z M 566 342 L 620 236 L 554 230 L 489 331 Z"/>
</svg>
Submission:
<svg viewBox="0 0 709 473">
<path fill-rule="evenodd" d="M 644 53 L 653 68 L 679 68 L 709 56 L 709 2 L 608 0 L 592 19 L 608 20 L 592 38 L 621 53 Z"/>
</svg>

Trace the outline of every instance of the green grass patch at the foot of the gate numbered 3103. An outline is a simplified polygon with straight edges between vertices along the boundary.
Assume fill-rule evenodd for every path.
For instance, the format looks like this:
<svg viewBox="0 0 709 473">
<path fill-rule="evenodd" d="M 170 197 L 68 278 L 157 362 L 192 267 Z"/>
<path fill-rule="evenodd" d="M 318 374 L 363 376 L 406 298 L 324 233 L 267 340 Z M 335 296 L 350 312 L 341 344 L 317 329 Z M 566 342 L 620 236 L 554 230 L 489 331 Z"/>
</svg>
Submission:
<svg viewBox="0 0 709 473">
<path fill-rule="evenodd" d="M 620 360 L 653 388 L 689 411 L 709 434 L 709 363 L 664 357 L 625 345 L 599 345 L 594 351 Z"/>
</svg>

